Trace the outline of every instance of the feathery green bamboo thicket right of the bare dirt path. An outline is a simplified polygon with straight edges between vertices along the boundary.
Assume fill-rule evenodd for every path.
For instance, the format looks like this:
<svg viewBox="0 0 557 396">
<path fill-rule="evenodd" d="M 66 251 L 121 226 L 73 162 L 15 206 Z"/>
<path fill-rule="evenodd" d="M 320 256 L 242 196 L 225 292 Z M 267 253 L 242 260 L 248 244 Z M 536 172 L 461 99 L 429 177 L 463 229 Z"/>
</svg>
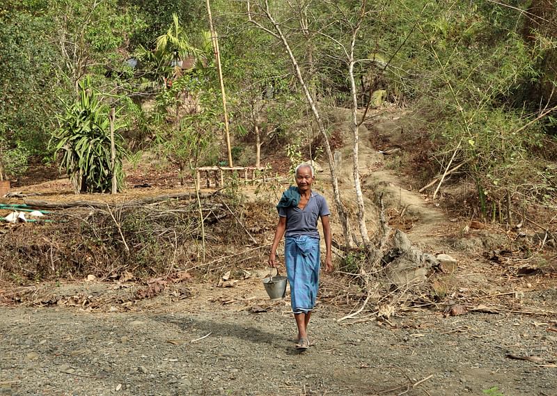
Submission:
<svg viewBox="0 0 557 396">
<path fill-rule="evenodd" d="M 436 157 L 443 167 L 455 151 L 453 165 L 467 161 L 483 216 L 489 208 L 494 216 L 507 195 L 523 202 L 557 199 L 555 180 L 536 154 L 550 138 L 535 122 L 538 104 L 528 102 L 531 84 L 542 76 L 543 51 L 511 22 L 517 12 L 484 2 L 438 3 L 418 22 L 421 42 L 413 40 L 424 56 L 409 66 L 429 77 L 414 86 L 441 143 Z"/>
</svg>

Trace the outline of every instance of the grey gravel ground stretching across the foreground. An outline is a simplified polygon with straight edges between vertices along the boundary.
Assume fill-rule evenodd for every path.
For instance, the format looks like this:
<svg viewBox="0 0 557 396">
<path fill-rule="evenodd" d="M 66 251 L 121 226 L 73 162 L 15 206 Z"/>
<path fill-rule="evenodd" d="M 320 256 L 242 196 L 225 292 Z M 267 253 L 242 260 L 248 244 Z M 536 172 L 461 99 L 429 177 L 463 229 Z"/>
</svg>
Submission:
<svg viewBox="0 0 557 396">
<path fill-rule="evenodd" d="M 254 313 L 257 302 L 0 307 L 0 395 L 557 395 L 555 322 L 540 317 L 339 324 L 322 304 L 315 346 L 298 354 L 288 301 Z"/>
</svg>

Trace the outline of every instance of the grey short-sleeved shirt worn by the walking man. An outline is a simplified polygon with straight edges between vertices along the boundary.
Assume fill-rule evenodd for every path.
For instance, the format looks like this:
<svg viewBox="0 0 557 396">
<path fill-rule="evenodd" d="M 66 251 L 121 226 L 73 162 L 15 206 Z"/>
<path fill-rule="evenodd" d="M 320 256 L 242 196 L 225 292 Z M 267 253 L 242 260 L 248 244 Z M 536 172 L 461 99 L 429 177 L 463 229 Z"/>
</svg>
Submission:
<svg viewBox="0 0 557 396">
<path fill-rule="evenodd" d="M 319 239 L 317 220 L 329 214 L 331 212 L 325 198 L 313 191 L 304 209 L 293 206 L 278 208 L 278 216 L 286 218 L 285 237 L 287 238 L 307 235 Z"/>
</svg>

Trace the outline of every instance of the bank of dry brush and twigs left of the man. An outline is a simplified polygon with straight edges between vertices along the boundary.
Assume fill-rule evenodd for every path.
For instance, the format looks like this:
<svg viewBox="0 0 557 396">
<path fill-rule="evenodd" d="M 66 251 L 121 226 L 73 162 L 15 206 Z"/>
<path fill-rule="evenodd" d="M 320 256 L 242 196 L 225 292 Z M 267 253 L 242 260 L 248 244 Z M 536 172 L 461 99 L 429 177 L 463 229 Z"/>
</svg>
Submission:
<svg viewBox="0 0 557 396">
<path fill-rule="evenodd" d="M 230 267 L 261 260 L 261 249 L 250 247 L 264 244 L 272 227 L 267 219 L 271 205 L 240 204 L 217 193 L 203 198 L 201 207 L 205 262 L 194 199 L 79 207 L 53 212 L 49 223 L 6 225 L 0 237 L 0 279 L 19 284 L 88 274 L 107 279 L 126 271 L 137 278 L 185 270 L 206 275 L 222 262 Z M 248 253 L 242 254 L 242 246 Z"/>
</svg>

